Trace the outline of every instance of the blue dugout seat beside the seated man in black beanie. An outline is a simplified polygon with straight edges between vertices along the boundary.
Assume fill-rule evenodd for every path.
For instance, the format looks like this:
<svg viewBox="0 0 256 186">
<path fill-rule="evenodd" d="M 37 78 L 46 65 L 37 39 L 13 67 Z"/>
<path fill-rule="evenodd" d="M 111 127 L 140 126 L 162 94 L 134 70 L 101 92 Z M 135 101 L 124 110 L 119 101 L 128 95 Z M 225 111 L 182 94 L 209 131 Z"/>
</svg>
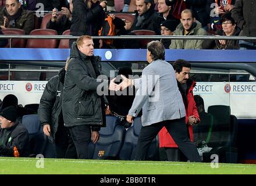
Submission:
<svg viewBox="0 0 256 186">
<path fill-rule="evenodd" d="M 27 128 L 27 131 L 29 131 L 30 157 L 35 157 L 38 154 L 44 155 L 48 140 L 47 136 L 42 131 L 38 115 L 23 116 L 22 124 Z"/>
</svg>

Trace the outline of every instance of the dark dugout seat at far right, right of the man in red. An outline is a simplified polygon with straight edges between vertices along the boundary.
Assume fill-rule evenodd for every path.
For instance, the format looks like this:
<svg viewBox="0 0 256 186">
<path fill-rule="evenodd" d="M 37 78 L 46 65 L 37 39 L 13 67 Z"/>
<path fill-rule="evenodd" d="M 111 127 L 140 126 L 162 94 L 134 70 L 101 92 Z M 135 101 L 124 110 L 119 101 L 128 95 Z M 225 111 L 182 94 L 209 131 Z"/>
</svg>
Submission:
<svg viewBox="0 0 256 186">
<path fill-rule="evenodd" d="M 237 163 L 237 119 L 231 115 L 230 106 L 212 105 L 208 113 L 214 117 L 211 138 L 208 146 L 213 148 L 203 153 L 204 162 L 211 162 L 212 154 L 218 155 L 220 163 Z"/>
</svg>

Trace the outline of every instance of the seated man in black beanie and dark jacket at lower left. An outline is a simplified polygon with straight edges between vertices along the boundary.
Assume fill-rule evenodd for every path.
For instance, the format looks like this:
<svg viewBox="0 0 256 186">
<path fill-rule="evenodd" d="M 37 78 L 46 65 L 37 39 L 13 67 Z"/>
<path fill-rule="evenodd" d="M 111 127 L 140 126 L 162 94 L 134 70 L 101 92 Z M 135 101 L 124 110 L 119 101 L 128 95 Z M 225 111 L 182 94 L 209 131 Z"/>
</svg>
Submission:
<svg viewBox="0 0 256 186">
<path fill-rule="evenodd" d="M 8 106 L 0 114 L 0 156 L 13 157 L 13 148 L 16 146 L 19 156 L 29 155 L 29 132 L 17 120 L 17 110 L 14 106 Z"/>
</svg>

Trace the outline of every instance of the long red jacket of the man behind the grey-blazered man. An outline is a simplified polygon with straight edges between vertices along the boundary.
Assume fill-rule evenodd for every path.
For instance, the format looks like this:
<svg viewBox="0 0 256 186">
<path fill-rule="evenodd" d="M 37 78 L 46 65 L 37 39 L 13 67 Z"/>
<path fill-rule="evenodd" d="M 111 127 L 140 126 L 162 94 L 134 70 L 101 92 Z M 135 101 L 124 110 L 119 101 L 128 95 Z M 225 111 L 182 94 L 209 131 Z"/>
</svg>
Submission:
<svg viewBox="0 0 256 186">
<path fill-rule="evenodd" d="M 197 106 L 195 106 L 195 101 L 194 101 L 194 95 L 193 95 L 193 88 L 195 87 L 195 81 L 187 81 L 187 86 L 189 91 L 187 92 L 187 106 L 186 108 L 186 124 L 189 125 L 189 116 L 195 116 L 198 121 L 200 121 L 198 112 L 197 112 Z M 184 101 L 184 98 L 183 98 Z M 186 104 L 184 104 L 186 105 Z M 190 135 L 190 140 L 193 142 L 194 137 L 193 137 L 193 126 L 189 125 L 189 135 Z M 171 147 L 171 148 L 177 148 L 176 143 L 174 142 L 173 138 L 170 136 L 168 131 L 166 130 L 165 127 L 162 128 L 161 131 L 159 131 L 159 147 Z"/>
</svg>

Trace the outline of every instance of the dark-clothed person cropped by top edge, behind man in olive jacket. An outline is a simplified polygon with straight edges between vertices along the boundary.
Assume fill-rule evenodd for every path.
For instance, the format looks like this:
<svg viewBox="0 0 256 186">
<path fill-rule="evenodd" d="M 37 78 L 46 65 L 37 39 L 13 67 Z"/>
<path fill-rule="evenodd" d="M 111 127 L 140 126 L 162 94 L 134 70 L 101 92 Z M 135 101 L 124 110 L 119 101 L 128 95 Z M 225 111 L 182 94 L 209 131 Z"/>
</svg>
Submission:
<svg viewBox="0 0 256 186">
<path fill-rule="evenodd" d="M 208 31 L 210 26 L 210 16 L 205 9 L 207 6 L 207 0 L 183 0 L 186 2 L 187 9 L 190 9 L 195 16 L 195 19 L 202 24 L 202 28 Z"/>
</svg>

